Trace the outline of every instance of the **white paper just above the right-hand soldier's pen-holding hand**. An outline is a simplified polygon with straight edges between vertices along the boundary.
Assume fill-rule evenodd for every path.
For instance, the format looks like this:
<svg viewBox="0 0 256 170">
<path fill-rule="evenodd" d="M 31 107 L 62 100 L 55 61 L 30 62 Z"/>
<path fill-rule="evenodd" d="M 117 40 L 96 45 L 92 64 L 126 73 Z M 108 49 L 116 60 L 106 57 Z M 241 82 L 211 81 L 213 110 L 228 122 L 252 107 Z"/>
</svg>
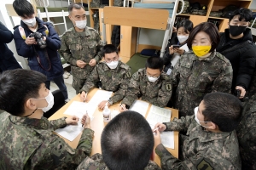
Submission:
<svg viewBox="0 0 256 170">
<path fill-rule="evenodd" d="M 151 105 L 151 108 L 148 112 L 147 121 L 151 128 L 154 128 L 154 125 L 157 122 L 170 122 L 171 121 L 172 111 L 164 108 Z"/>
</svg>

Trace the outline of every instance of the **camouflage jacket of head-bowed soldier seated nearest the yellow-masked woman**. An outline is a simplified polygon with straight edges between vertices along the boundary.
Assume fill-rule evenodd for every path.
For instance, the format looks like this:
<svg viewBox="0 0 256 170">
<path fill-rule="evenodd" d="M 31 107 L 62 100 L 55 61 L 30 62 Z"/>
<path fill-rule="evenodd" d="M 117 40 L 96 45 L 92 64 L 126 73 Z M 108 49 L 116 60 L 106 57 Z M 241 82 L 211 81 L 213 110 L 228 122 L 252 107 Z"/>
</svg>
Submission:
<svg viewBox="0 0 256 170">
<path fill-rule="evenodd" d="M 131 106 L 135 99 L 142 97 L 152 105 L 165 107 L 172 96 L 172 81 L 161 73 L 155 82 L 149 82 L 146 69 L 139 69 L 131 77 L 128 91 L 122 104 Z"/>
</svg>

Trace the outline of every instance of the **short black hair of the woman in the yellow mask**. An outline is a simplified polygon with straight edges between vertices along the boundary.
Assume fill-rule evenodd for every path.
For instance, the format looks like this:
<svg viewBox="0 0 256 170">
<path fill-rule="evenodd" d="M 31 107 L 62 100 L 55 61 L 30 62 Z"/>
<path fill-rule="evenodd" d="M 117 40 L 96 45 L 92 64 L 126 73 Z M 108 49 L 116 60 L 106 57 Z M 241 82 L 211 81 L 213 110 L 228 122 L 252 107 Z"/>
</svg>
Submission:
<svg viewBox="0 0 256 170">
<path fill-rule="evenodd" d="M 208 36 L 211 38 L 212 48 L 209 51 L 211 53 L 217 48 L 218 42 L 220 40 L 218 28 L 211 22 L 202 22 L 200 25 L 197 25 L 195 26 L 195 28 L 193 28 L 187 40 L 188 48 L 192 48 L 192 43 L 195 39 L 195 36 L 201 31 L 206 32 Z"/>
</svg>

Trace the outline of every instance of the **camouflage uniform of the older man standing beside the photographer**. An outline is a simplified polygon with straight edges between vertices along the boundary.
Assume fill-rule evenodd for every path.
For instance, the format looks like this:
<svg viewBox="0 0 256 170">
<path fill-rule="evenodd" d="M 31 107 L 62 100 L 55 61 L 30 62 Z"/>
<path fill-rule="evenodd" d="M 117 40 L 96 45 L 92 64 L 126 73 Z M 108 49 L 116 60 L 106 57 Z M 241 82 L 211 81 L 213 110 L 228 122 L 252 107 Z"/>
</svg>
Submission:
<svg viewBox="0 0 256 170">
<path fill-rule="evenodd" d="M 83 32 L 78 32 L 71 28 L 63 34 L 60 53 L 67 63 L 71 65 L 73 88 L 77 94 L 94 68 L 88 65 L 90 59 L 96 59 L 96 62 L 102 59 L 101 48 L 101 37 L 93 28 L 85 27 Z M 83 69 L 77 65 L 77 60 L 79 59 L 87 64 Z"/>
</svg>

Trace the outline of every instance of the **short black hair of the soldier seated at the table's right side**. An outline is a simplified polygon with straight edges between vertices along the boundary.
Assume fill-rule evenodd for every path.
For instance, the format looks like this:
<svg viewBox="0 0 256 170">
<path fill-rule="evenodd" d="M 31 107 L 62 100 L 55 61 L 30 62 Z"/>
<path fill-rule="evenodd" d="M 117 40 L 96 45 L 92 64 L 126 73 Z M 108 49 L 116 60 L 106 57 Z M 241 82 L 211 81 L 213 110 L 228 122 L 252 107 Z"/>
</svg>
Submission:
<svg viewBox="0 0 256 170">
<path fill-rule="evenodd" d="M 242 105 L 236 96 L 215 92 L 203 98 L 205 110 L 204 121 L 214 122 L 222 132 L 233 131 L 241 121 Z"/>
</svg>

